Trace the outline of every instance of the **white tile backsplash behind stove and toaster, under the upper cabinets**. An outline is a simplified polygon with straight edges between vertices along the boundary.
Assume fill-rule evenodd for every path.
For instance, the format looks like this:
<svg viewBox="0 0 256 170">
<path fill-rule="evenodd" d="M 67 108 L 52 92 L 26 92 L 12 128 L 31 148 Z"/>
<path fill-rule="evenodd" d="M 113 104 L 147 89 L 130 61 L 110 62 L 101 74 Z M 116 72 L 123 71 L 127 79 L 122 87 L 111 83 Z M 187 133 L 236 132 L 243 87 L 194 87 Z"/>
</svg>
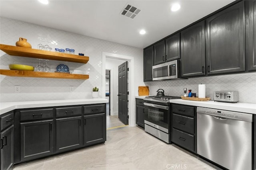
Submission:
<svg viewBox="0 0 256 170">
<path fill-rule="evenodd" d="M 214 91 L 238 91 L 239 102 L 256 104 L 256 72 L 206 76 L 184 80 L 166 80 L 145 82 L 149 86 L 150 95 L 156 95 L 159 88 L 166 96 L 183 96 L 183 88 L 191 89 L 198 96 L 198 84 L 206 84 L 206 97 L 213 100 Z"/>
</svg>

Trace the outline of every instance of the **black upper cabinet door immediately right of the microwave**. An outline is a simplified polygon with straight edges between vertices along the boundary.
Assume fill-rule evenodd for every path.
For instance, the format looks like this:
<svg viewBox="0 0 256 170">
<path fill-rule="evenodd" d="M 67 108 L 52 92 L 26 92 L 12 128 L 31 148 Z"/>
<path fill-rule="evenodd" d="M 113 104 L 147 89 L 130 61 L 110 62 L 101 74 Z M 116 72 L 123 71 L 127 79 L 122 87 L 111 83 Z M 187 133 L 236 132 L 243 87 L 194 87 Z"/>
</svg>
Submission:
<svg viewBox="0 0 256 170">
<path fill-rule="evenodd" d="M 205 23 L 196 23 L 180 34 L 181 76 L 205 75 Z"/>
</svg>

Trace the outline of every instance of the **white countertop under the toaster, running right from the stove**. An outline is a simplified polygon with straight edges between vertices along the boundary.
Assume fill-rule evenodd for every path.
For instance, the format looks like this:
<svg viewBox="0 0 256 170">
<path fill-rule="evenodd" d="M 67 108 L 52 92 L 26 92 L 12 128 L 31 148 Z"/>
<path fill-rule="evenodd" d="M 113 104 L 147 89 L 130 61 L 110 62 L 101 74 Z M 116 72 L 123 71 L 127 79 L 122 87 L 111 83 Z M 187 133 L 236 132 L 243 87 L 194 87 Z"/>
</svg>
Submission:
<svg viewBox="0 0 256 170">
<path fill-rule="evenodd" d="M 173 99 L 173 100 L 170 100 L 170 103 L 256 114 L 256 104 L 251 104 L 251 103 L 240 103 L 240 102 L 225 103 L 225 102 L 214 102 L 214 101 L 199 102 L 199 101 L 182 100 L 182 99 Z"/>
</svg>

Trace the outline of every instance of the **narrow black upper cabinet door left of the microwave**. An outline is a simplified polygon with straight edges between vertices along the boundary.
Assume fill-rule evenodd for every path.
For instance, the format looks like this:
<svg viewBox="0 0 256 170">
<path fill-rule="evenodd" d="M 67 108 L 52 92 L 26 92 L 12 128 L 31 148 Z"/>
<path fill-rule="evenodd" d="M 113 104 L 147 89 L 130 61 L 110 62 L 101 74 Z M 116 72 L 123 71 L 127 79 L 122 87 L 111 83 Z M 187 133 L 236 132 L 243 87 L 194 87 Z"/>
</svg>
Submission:
<svg viewBox="0 0 256 170">
<path fill-rule="evenodd" d="M 152 81 L 153 46 L 144 49 L 144 82 Z"/>
</svg>

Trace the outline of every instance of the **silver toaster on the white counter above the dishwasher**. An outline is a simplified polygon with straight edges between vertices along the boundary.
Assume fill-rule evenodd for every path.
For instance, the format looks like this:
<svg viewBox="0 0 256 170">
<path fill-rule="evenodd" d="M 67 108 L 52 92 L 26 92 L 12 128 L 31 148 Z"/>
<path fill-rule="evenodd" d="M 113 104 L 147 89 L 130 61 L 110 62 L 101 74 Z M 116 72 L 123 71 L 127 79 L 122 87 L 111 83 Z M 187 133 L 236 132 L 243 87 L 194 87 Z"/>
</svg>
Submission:
<svg viewBox="0 0 256 170">
<path fill-rule="evenodd" d="M 236 91 L 215 91 L 214 101 L 217 102 L 238 102 L 238 92 Z"/>
</svg>

